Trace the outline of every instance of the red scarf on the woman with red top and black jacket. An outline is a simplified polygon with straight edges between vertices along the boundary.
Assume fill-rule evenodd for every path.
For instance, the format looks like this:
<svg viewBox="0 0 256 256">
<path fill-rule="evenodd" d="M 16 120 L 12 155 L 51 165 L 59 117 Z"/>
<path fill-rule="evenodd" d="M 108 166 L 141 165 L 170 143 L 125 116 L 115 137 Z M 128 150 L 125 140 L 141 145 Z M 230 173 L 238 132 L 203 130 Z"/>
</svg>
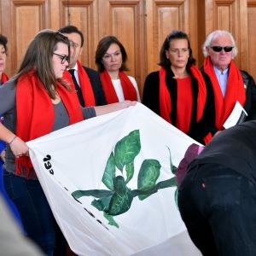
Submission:
<svg viewBox="0 0 256 256">
<path fill-rule="evenodd" d="M 202 118 L 205 105 L 207 102 L 207 86 L 205 84 L 205 80 L 203 79 L 200 70 L 192 66 L 190 67 L 190 72 L 192 77 L 197 80 L 198 83 L 198 95 L 197 95 L 197 111 L 196 111 L 196 121 L 199 122 Z M 160 68 L 160 116 L 163 119 L 166 119 L 167 122 L 172 124 L 172 120 L 170 118 L 170 114 L 172 112 L 172 101 L 169 90 L 166 86 L 166 69 L 164 67 Z M 191 117 L 189 117 L 190 120 Z M 184 122 L 188 122 L 188 120 L 184 119 Z M 185 125 L 182 125 L 185 126 Z M 207 134 L 204 138 L 205 143 L 208 143 L 211 140 L 211 134 Z"/>
</svg>

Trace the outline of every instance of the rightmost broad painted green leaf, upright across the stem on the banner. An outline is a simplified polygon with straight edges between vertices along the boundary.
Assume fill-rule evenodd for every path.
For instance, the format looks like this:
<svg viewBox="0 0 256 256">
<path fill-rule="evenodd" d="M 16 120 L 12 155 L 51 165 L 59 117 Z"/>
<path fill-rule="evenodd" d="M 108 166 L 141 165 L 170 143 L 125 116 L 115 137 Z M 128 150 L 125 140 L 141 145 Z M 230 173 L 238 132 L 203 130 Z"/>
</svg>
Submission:
<svg viewBox="0 0 256 256">
<path fill-rule="evenodd" d="M 143 160 L 137 177 L 137 189 L 148 190 L 154 188 L 156 180 L 160 176 L 160 162 L 154 159 Z M 139 199 L 143 200 L 148 195 L 139 195 Z"/>
</svg>

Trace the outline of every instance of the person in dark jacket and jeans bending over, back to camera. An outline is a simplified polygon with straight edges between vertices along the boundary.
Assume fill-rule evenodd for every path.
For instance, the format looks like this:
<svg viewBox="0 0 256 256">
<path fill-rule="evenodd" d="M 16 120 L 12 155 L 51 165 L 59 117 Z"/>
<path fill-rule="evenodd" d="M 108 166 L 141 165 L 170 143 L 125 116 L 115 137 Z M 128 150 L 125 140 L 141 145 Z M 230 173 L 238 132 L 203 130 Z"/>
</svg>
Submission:
<svg viewBox="0 0 256 256">
<path fill-rule="evenodd" d="M 248 121 L 213 137 L 189 164 L 178 208 L 203 255 L 256 255 L 255 154 L 256 121 Z"/>
</svg>

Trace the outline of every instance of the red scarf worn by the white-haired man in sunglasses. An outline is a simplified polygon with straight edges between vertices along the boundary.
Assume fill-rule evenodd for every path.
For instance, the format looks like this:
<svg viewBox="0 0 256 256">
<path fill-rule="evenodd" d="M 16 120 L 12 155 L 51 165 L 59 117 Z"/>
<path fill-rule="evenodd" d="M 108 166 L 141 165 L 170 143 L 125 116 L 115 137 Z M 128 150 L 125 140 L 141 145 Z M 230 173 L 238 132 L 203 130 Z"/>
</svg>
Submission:
<svg viewBox="0 0 256 256">
<path fill-rule="evenodd" d="M 207 73 L 211 79 L 214 91 L 216 113 L 215 125 L 218 130 L 223 130 L 224 122 L 235 107 L 236 101 L 240 102 L 241 106 L 244 106 L 246 100 L 246 92 L 244 90 L 241 73 L 235 63 L 231 61 L 227 89 L 225 96 L 223 96 L 209 56 L 204 61 L 204 72 Z"/>
</svg>

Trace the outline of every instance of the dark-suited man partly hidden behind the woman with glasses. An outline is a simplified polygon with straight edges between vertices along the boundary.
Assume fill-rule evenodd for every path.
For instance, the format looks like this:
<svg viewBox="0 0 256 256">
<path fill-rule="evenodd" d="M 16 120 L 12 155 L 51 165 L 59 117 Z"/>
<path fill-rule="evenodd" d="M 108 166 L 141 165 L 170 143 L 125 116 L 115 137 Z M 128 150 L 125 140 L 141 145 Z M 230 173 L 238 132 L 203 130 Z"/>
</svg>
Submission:
<svg viewBox="0 0 256 256">
<path fill-rule="evenodd" d="M 64 26 L 59 29 L 59 32 L 69 38 L 70 41 L 68 71 L 72 76 L 81 106 L 90 107 L 107 104 L 98 73 L 89 67 L 82 66 L 78 60 L 83 52 L 83 33 L 76 26 Z"/>
</svg>

